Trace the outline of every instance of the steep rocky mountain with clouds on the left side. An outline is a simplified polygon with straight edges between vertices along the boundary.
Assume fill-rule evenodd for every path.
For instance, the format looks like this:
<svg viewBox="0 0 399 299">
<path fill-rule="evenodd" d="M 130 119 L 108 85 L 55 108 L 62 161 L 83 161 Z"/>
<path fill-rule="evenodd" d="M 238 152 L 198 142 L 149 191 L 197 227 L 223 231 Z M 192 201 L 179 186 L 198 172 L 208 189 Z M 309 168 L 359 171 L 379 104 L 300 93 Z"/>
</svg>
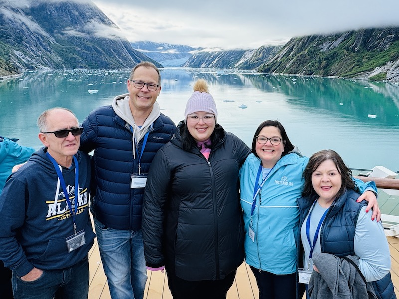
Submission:
<svg viewBox="0 0 399 299">
<path fill-rule="evenodd" d="M 127 68 L 152 61 L 135 51 L 91 1 L 0 4 L 0 75 L 41 68 Z"/>
</svg>

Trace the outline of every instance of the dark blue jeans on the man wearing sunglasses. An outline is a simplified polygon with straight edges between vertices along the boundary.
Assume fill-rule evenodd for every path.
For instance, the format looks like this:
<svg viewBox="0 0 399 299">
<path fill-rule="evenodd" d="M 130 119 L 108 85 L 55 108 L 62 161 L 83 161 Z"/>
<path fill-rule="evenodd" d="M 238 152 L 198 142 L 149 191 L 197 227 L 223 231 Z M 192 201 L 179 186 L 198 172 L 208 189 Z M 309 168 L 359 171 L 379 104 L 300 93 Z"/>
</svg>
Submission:
<svg viewBox="0 0 399 299">
<path fill-rule="evenodd" d="M 31 282 L 23 281 L 12 271 L 15 299 L 87 299 L 89 295 L 89 260 L 60 270 L 43 270 Z"/>
</svg>

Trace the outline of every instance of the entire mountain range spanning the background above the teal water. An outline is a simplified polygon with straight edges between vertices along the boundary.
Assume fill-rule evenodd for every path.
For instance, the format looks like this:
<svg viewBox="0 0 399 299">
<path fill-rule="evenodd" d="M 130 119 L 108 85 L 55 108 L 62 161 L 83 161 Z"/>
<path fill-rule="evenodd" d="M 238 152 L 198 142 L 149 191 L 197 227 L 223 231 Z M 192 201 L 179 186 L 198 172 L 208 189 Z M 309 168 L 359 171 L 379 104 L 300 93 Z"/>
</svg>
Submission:
<svg viewBox="0 0 399 299">
<path fill-rule="evenodd" d="M 399 27 L 295 37 L 252 50 L 138 41 L 90 0 L 0 0 L 0 76 L 34 69 L 235 68 L 262 73 L 399 81 Z"/>
</svg>

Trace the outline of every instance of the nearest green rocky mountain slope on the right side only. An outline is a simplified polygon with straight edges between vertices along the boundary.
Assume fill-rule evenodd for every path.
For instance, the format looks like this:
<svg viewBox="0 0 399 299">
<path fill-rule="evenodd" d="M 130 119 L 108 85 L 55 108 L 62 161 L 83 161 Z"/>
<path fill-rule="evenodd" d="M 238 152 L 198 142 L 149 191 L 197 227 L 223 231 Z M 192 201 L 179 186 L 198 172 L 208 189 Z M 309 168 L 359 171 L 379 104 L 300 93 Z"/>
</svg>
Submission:
<svg viewBox="0 0 399 299">
<path fill-rule="evenodd" d="M 399 28 L 292 38 L 259 71 L 399 80 Z"/>
</svg>

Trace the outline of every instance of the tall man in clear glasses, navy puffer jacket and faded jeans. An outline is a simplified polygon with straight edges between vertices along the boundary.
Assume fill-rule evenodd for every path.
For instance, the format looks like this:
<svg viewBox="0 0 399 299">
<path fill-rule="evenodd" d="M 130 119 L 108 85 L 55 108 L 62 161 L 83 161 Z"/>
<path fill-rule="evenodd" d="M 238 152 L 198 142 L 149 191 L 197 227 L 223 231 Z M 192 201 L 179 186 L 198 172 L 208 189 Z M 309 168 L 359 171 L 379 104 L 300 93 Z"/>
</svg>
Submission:
<svg viewBox="0 0 399 299">
<path fill-rule="evenodd" d="M 111 298 L 142 299 L 147 280 L 141 231 L 144 187 L 155 153 L 176 127 L 156 102 L 161 78 L 154 64 L 137 64 L 127 88 L 129 93 L 83 121 L 80 149 L 94 150 L 97 188 L 90 210 Z"/>
</svg>

